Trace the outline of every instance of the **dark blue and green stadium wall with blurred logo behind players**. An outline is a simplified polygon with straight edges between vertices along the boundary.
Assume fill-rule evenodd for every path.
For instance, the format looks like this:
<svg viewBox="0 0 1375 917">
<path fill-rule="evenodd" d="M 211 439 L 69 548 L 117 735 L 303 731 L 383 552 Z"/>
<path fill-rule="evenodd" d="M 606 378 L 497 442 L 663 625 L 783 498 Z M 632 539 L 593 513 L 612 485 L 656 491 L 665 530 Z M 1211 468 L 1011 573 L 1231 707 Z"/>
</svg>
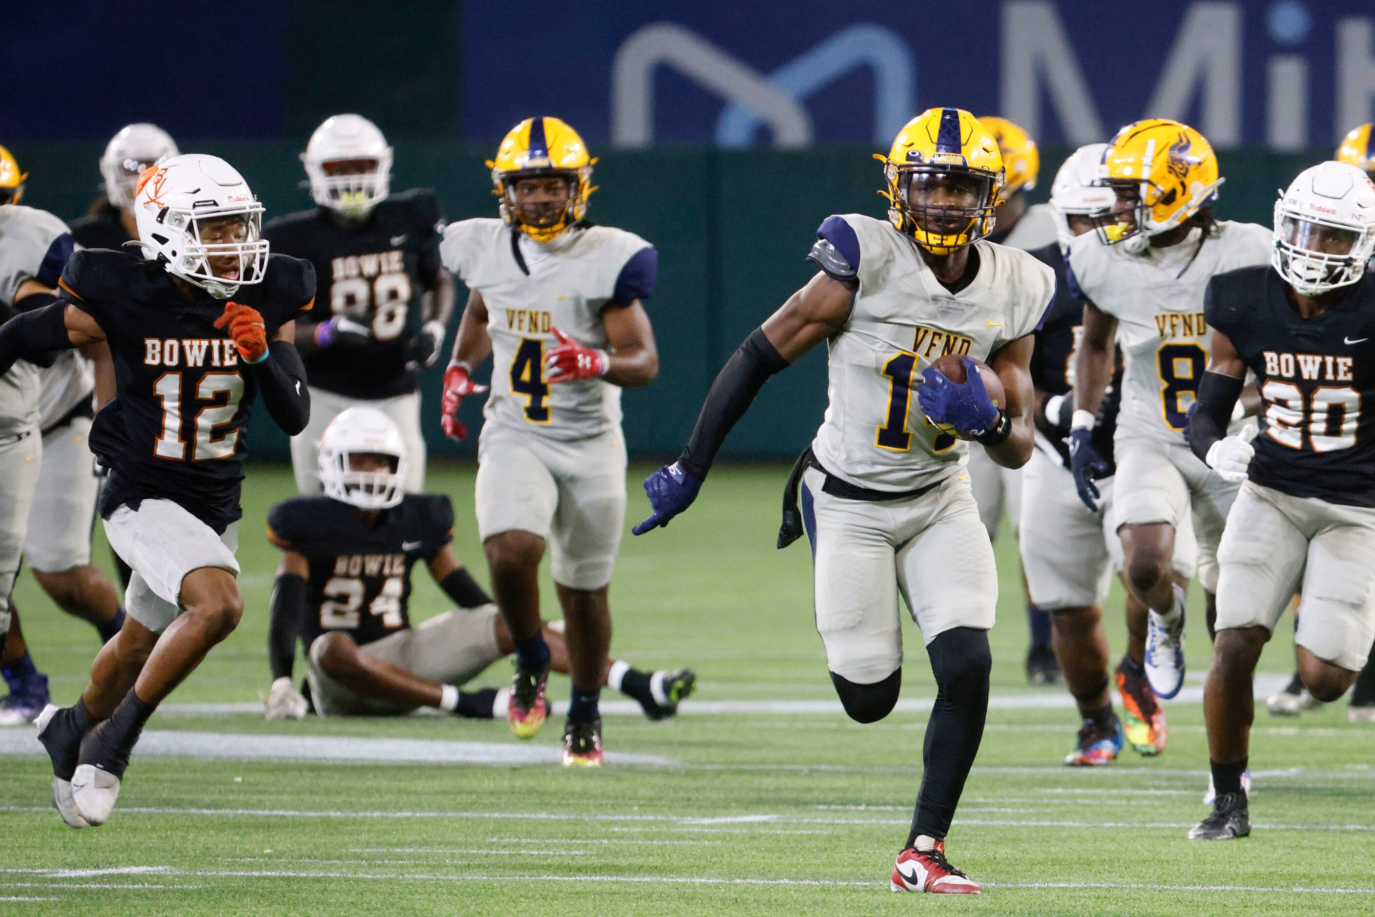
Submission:
<svg viewBox="0 0 1375 917">
<path fill-rule="evenodd" d="M 810 275 L 804 254 L 826 214 L 883 213 L 870 154 L 914 111 L 953 103 L 1028 122 L 1044 146 L 1033 199 L 1074 144 L 1173 114 L 1224 140 L 1221 216 L 1261 223 L 1275 188 L 1327 158 L 1357 114 L 1375 117 L 1368 0 L 1165 0 L 1125 32 L 1093 0 L 854 3 L 840 16 L 820 0 L 786 4 L 785 16 L 749 0 L 590 0 L 521 4 L 524 26 L 509 4 L 437 0 L 158 5 L 161 16 L 30 4 L 0 27 L 0 143 L 30 172 L 28 203 L 78 216 L 104 140 L 150 120 L 183 150 L 234 162 L 270 214 L 304 208 L 304 137 L 353 110 L 393 140 L 393 187 L 436 188 L 450 219 L 484 216 L 495 140 L 521 117 L 560 114 L 600 155 L 593 219 L 661 252 L 649 311 L 663 370 L 624 399 L 639 455 L 682 444 L 716 368 Z M 440 434 L 437 388 L 432 371 L 430 448 L 470 454 Z M 726 452 L 791 456 L 824 408 L 813 353 L 764 389 Z M 478 406 L 465 415 L 476 421 Z M 252 443 L 286 456 L 270 422 Z"/>
</svg>

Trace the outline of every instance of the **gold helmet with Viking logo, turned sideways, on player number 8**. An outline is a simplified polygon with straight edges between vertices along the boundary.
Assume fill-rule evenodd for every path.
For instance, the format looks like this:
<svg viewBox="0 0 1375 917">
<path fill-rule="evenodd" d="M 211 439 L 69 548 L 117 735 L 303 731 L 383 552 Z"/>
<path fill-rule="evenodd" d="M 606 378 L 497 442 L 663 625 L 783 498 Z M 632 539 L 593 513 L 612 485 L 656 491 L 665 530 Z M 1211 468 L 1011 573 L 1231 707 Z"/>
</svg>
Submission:
<svg viewBox="0 0 1375 917">
<path fill-rule="evenodd" d="M 1111 187 L 1116 203 L 1094 214 L 1099 239 L 1116 245 L 1167 232 L 1211 203 L 1224 179 L 1203 135 L 1178 121 L 1147 118 L 1129 124 L 1103 153 L 1096 184 Z"/>
</svg>

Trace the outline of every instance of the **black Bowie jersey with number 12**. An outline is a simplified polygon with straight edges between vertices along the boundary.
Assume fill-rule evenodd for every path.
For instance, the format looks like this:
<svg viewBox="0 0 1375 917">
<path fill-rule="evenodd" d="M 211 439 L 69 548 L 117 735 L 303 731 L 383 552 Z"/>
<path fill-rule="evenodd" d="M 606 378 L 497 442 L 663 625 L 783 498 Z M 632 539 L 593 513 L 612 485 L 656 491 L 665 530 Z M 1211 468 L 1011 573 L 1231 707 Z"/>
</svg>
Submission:
<svg viewBox="0 0 1375 917">
<path fill-rule="evenodd" d="M 110 469 L 100 513 L 164 498 L 223 532 L 241 516 L 257 393 L 228 331 L 214 327 L 224 300 L 195 287 L 188 301 L 161 264 L 128 250 L 77 252 L 59 285 L 96 320 L 114 357 L 117 395 L 91 428 L 91 451 Z M 311 264 L 274 254 L 263 282 L 241 286 L 234 301 L 261 312 L 271 338 L 314 294 Z"/>
</svg>

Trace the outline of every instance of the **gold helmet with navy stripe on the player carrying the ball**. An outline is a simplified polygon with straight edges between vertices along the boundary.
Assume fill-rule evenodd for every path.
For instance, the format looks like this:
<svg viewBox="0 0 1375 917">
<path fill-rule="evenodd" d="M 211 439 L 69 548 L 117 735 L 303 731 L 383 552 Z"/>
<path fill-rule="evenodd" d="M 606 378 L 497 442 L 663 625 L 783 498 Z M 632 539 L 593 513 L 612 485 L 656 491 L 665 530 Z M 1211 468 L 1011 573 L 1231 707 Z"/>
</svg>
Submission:
<svg viewBox="0 0 1375 917">
<path fill-rule="evenodd" d="M 998 142 L 962 109 L 927 109 L 898 132 L 883 162 L 888 220 L 932 254 L 993 232 L 1002 190 Z"/>
</svg>

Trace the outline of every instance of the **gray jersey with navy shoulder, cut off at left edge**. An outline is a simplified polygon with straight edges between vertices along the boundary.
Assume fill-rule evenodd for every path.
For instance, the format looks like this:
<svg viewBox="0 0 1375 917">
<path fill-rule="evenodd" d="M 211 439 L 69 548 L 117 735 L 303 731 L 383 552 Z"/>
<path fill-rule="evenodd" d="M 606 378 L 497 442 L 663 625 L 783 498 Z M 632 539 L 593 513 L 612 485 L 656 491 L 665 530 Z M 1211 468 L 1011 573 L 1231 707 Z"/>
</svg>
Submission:
<svg viewBox="0 0 1375 917">
<path fill-rule="evenodd" d="M 0 206 L 0 302 L 12 305 L 26 280 L 56 287 L 72 253 L 66 224 L 44 210 Z M 38 426 L 38 368 L 19 360 L 0 378 L 0 437 Z"/>
</svg>

